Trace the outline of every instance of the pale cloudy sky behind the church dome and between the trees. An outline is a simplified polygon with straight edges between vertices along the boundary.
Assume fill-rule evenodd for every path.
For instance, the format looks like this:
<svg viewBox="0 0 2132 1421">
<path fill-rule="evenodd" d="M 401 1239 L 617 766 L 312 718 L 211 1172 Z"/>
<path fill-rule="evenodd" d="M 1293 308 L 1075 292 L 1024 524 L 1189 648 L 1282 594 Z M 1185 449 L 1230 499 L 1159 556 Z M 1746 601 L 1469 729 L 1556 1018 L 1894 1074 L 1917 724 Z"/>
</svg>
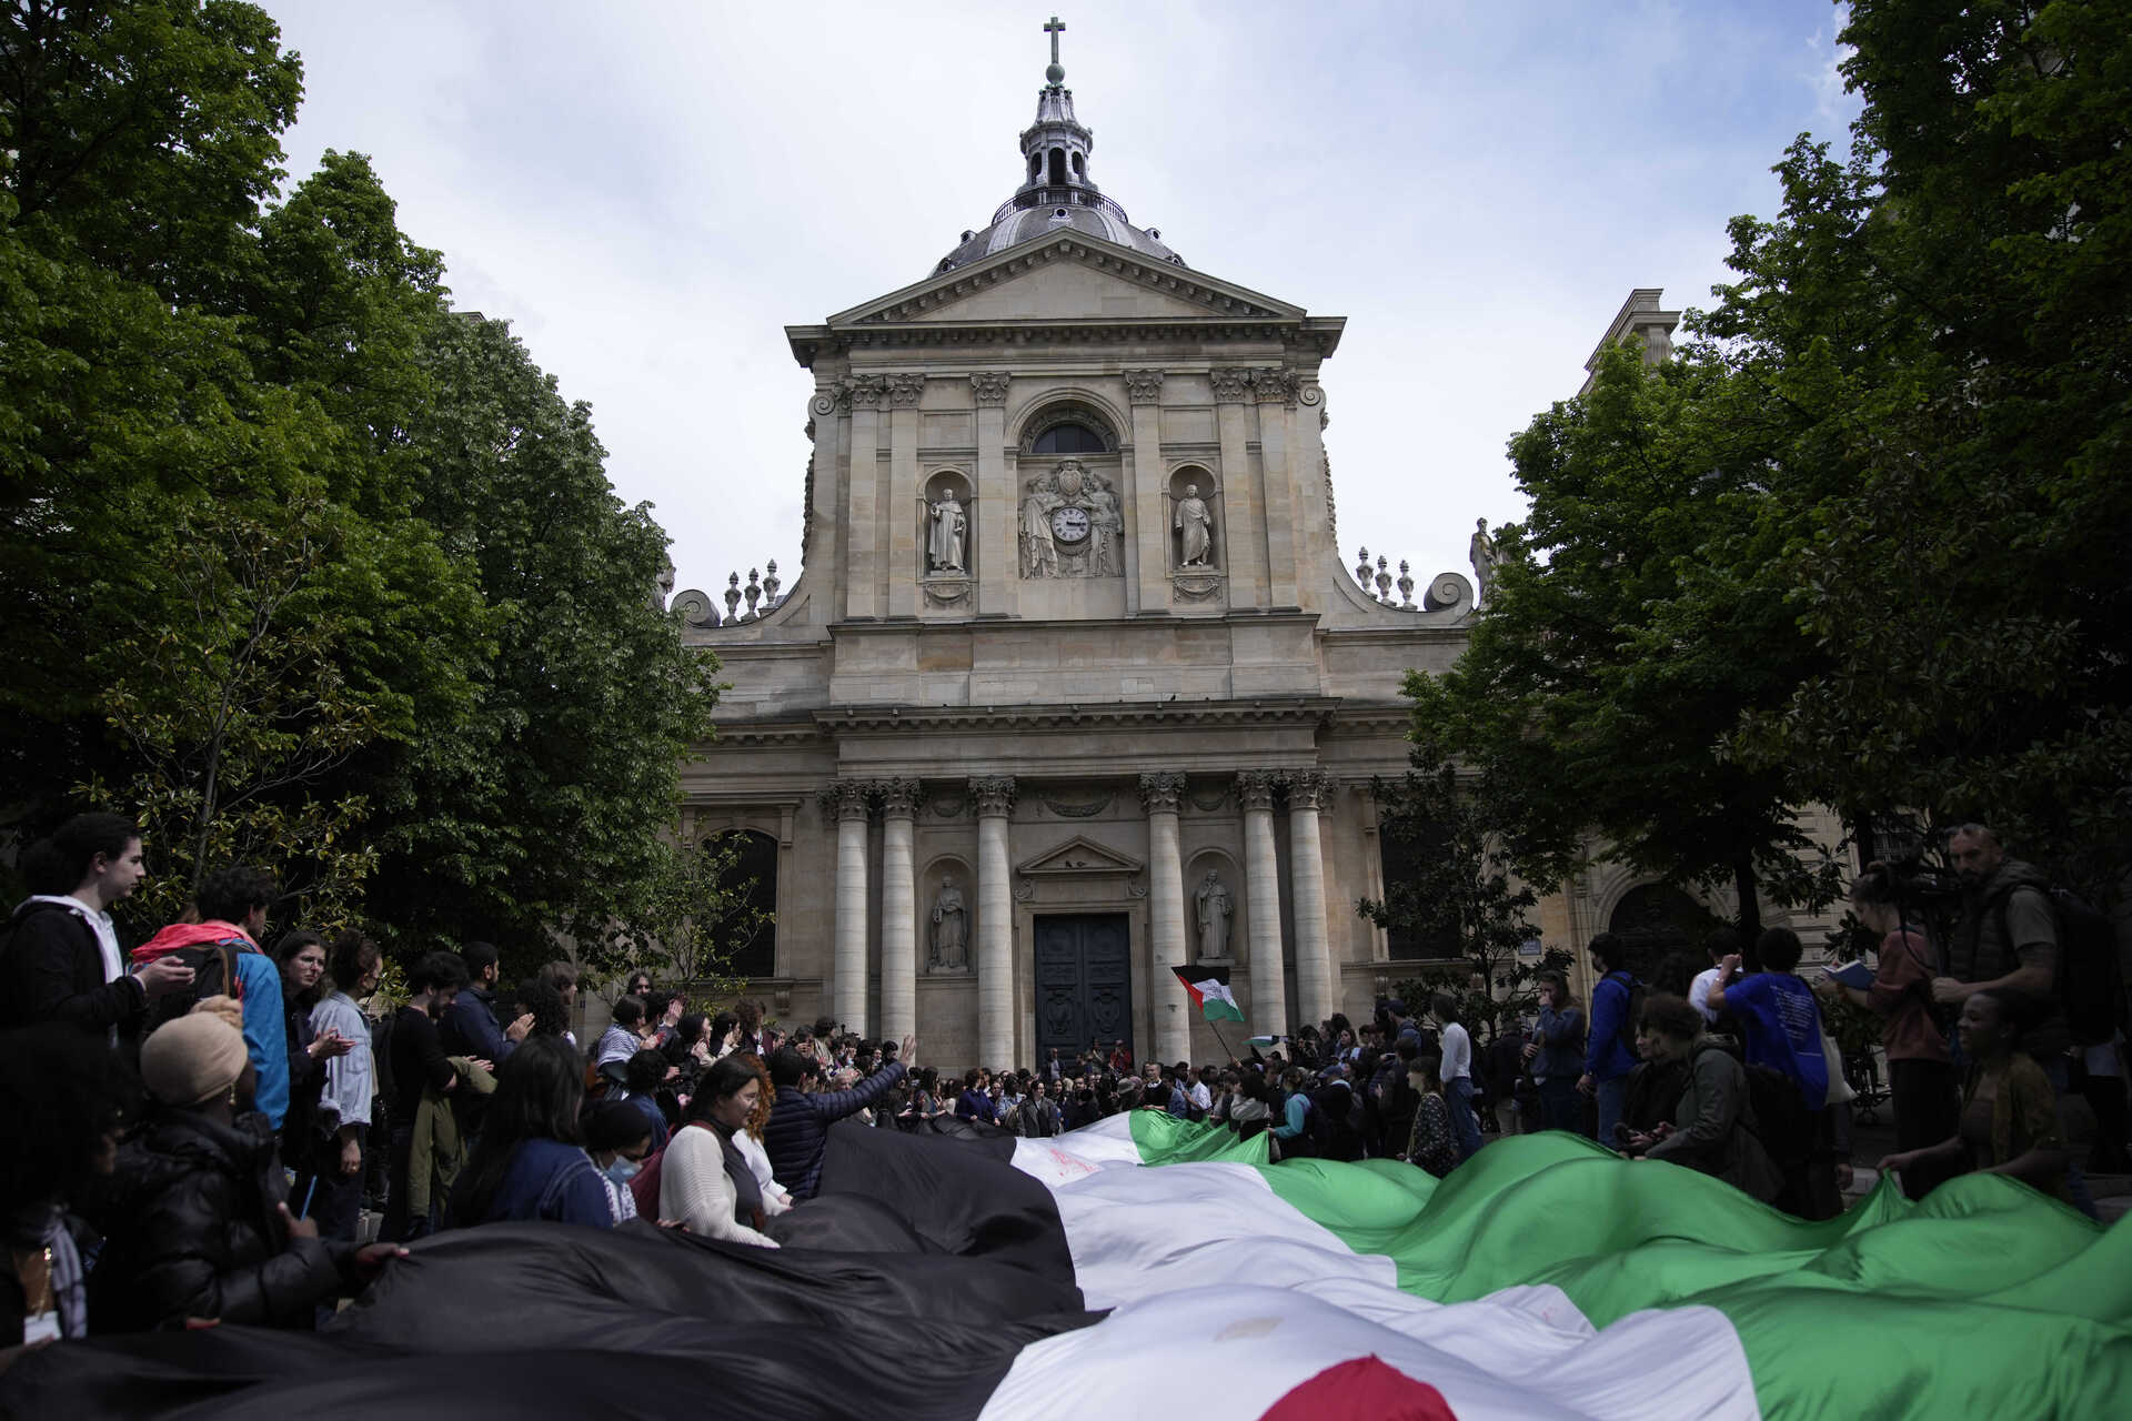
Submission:
<svg viewBox="0 0 2132 1421">
<path fill-rule="evenodd" d="M 800 575 L 787 324 L 932 273 L 1019 177 L 1049 4 L 264 0 L 292 177 L 369 153 L 454 303 L 591 401 L 678 586 Z M 1196 271 L 1345 315 L 1341 548 L 1467 569 L 1505 441 L 1635 285 L 1708 305 L 1799 132 L 1842 145 L 1827 0 L 1062 4 L 1089 175 Z M 712 437 L 714 430 L 714 437 Z"/>
</svg>

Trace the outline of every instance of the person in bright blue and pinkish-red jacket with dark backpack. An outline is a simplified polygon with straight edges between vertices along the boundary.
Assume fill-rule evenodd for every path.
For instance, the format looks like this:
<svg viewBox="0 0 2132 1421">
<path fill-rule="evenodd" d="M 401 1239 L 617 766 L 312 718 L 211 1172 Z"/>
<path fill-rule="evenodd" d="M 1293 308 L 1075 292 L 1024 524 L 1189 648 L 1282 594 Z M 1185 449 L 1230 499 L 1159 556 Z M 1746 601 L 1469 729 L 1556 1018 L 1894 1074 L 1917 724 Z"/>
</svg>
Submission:
<svg viewBox="0 0 2132 1421">
<path fill-rule="evenodd" d="M 156 1003 L 149 1031 L 207 997 L 237 997 L 245 1016 L 245 1052 L 258 1074 L 254 1108 L 281 1129 L 288 1114 L 288 1020 L 281 969 L 260 952 L 273 899 L 275 882 L 266 869 L 213 869 L 192 891 L 200 920 L 168 925 L 134 948 L 134 963 L 145 967 L 175 957 L 192 967 L 192 986 Z"/>
</svg>

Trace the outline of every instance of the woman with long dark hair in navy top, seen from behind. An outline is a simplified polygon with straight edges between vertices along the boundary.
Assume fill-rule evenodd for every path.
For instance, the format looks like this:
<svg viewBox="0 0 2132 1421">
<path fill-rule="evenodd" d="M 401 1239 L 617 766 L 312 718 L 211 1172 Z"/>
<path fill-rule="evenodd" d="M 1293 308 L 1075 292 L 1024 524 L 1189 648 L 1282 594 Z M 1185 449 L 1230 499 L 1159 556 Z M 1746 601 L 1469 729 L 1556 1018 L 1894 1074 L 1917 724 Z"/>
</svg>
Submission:
<svg viewBox="0 0 2132 1421">
<path fill-rule="evenodd" d="M 584 1067 L 556 1035 L 529 1035 L 497 1067 L 482 1138 L 452 1191 L 452 1223 L 550 1219 L 612 1227 L 608 1187 L 584 1153 Z"/>
</svg>

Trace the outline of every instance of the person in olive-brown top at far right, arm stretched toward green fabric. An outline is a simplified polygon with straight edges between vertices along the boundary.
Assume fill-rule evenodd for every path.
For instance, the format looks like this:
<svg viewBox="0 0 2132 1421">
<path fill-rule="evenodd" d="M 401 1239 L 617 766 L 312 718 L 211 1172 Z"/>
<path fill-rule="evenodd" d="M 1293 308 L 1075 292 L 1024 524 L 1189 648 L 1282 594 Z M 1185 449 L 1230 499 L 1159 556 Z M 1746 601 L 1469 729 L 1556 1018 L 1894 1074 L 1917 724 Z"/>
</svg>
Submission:
<svg viewBox="0 0 2132 1421">
<path fill-rule="evenodd" d="M 2057 1093 L 2051 1078 L 2021 1048 L 2019 1012 L 2038 1014 L 2032 999 L 1996 989 L 1961 999 L 1955 1031 L 1961 1033 L 1961 1125 L 1953 1136 L 1919 1150 L 1897 1150 L 1880 1170 L 1908 1176 L 1919 1165 L 1957 1172 L 2006 1174 L 2070 1204 L 2066 1189 L 2066 1138 L 2057 1125 Z"/>
</svg>

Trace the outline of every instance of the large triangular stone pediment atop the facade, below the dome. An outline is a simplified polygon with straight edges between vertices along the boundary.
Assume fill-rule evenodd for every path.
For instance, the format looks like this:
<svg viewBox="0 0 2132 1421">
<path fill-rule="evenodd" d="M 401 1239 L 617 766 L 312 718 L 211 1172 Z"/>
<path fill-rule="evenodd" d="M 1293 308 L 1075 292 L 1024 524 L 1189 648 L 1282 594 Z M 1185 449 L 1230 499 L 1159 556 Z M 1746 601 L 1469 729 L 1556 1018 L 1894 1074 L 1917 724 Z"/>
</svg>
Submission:
<svg viewBox="0 0 2132 1421">
<path fill-rule="evenodd" d="M 902 324 L 1303 320 L 1303 307 L 1085 232 L 1019 243 L 829 317 Z"/>
</svg>

